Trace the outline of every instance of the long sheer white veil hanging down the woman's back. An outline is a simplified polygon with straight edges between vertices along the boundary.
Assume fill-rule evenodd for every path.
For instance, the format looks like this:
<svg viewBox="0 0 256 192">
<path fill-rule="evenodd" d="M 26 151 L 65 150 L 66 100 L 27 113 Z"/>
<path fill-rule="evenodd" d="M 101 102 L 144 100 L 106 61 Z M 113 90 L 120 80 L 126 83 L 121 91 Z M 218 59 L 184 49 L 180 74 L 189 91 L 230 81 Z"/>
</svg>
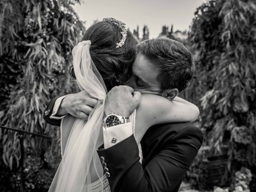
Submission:
<svg viewBox="0 0 256 192">
<path fill-rule="evenodd" d="M 74 120 L 49 192 L 87 192 L 90 189 L 85 189 L 85 186 L 102 180 L 103 168 L 96 150 L 103 144 L 102 118 L 107 91 L 90 57 L 90 43 L 89 40 L 83 41 L 74 47 L 73 66 L 79 88 L 97 98 L 98 104 L 88 121 Z"/>
</svg>

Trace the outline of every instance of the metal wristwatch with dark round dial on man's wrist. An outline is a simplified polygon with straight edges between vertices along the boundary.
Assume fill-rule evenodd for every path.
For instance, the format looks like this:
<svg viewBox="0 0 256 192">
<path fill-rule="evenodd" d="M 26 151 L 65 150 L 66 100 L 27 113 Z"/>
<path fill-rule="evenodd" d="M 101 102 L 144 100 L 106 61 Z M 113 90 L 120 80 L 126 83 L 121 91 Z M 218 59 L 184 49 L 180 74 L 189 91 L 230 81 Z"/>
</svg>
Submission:
<svg viewBox="0 0 256 192">
<path fill-rule="evenodd" d="M 123 117 L 115 113 L 110 113 L 103 120 L 103 125 L 106 128 L 106 127 L 112 127 L 112 126 L 116 126 L 116 125 L 120 125 L 128 122 L 130 122 L 128 117 Z"/>
</svg>

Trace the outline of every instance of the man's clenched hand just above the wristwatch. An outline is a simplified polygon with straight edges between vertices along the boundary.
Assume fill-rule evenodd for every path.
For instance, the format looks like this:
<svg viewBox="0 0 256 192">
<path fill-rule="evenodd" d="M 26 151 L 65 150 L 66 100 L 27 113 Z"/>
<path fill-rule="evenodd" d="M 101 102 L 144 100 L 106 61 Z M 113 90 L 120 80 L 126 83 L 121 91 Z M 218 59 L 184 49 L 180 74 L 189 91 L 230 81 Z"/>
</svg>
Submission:
<svg viewBox="0 0 256 192">
<path fill-rule="evenodd" d="M 129 86 L 115 86 L 108 92 L 104 112 L 128 117 L 140 104 L 141 94 Z"/>
</svg>

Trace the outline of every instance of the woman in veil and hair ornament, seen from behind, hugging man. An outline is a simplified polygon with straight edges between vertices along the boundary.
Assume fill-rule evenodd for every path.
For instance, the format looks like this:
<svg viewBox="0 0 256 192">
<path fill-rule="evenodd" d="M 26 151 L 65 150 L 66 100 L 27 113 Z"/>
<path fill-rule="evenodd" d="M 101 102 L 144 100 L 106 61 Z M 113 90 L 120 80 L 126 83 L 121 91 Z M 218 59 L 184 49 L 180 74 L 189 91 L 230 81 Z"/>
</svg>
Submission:
<svg viewBox="0 0 256 192">
<path fill-rule="evenodd" d="M 131 64 L 136 57 L 135 45 L 136 40 L 124 23 L 105 18 L 88 28 L 83 41 L 72 50 L 71 74 L 76 78 L 80 90 L 96 98 L 98 104 L 87 121 L 71 115 L 62 119 L 62 161 L 49 192 L 110 192 L 106 174 L 96 153 L 104 142 L 104 102 L 108 90 L 124 84 L 131 76 Z M 170 101 L 152 94 L 142 95 L 141 100 L 143 102 L 137 109 L 139 118 L 136 118 L 135 110 L 130 122 L 142 160 L 140 140 L 150 126 L 196 120 L 198 108 L 180 98 Z M 166 115 L 162 116 L 159 110 Z M 155 118 L 148 118 L 151 116 Z M 136 130 L 137 126 L 140 129 Z"/>
</svg>

